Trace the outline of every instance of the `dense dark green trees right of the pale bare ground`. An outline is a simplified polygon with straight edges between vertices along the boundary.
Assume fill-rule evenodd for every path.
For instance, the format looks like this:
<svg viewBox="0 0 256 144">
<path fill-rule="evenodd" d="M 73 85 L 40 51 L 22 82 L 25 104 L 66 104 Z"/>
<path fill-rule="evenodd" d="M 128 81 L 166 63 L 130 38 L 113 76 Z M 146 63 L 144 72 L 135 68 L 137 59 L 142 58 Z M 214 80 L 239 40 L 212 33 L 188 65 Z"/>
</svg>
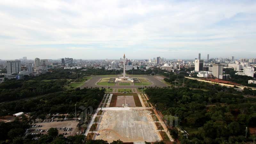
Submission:
<svg viewBox="0 0 256 144">
<path fill-rule="evenodd" d="M 218 88 L 204 91 L 188 87 L 147 88 L 145 92 L 164 116 L 177 116 L 181 126 L 197 127 L 196 134 L 190 134 L 188 139 L 179 135 L 181 143 L 252 140 L 249 129 L 256 126 L 256 98 L 245 98 Z"/>
</svg>

